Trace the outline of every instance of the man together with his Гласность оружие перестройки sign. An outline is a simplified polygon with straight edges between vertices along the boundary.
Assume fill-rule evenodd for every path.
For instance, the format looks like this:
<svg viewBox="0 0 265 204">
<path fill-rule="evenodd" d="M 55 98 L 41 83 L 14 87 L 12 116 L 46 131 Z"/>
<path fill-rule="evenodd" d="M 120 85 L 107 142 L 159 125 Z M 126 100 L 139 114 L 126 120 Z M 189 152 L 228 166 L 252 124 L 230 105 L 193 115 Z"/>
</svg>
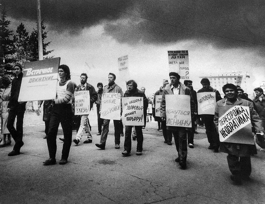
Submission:
<svg viewBox="0 0 265 204">
<path fill-rule="evenodd" d="M 109 73 L 108 81 L 109 84 L 104 86 L 102 99 L 100 103 L 100 118 L 103 118 L 103 129 L 100 137 L 100 143 L 96 143 L 95 145 L 100 149 L 105 149 L 107 136 L 109 133 L 109 122 L 112 118 L 114 123 L 114 136 L 115 136 L 115 149 L 120 148 L 120 121 L 121 121 L 121 97 L 123 97 L 123 92 L 121 87 L 119 87 L 114 81 L 116 79 L 116 75 L 113 73 Z M 105 94 L 105 95 L 104 95 Z M 103 105 L 104 103 L 104 105 Z M 114 106 L 113 106 L 114 105 Z M 103 110 L 103 106 L 107 109 Z M 119 111 L 119 115 L 117 112 Z"/>
</svg>

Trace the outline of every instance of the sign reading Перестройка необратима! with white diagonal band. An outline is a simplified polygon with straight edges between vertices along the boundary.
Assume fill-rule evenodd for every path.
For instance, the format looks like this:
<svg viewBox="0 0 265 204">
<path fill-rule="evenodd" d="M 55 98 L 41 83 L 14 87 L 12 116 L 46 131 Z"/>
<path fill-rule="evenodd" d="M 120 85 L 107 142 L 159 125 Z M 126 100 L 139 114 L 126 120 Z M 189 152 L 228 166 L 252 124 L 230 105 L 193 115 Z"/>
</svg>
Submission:
<svg viewBox="0 0 265 204">
<path fill-rule="evenodd" d="M 248 106 L 233 106 L 218 119 L 220 142 L 254 144 Z"/>
</svg>

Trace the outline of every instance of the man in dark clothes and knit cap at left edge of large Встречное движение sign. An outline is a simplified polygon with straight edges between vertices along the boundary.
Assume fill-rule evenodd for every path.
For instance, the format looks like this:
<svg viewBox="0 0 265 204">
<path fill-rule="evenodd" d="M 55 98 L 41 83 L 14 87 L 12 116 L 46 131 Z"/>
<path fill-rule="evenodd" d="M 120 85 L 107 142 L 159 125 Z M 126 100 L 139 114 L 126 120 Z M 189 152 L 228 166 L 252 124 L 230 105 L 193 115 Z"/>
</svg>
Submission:
<svg viewBox="0 0 265 204">
<path fill-rule="evenodd" d="M 26 110 L 26 102 L 18 102 L 21 81 L 23 77 L 21 64 L 15 64 L 14 68 L 15 78 L 11 85 L 10 101 L 8 103 L 8 120 L 7 129 L 15 140 L 13 151 L 8 153 L 8 156 L 15 156 L 20 154 L 20 148 L 24 145 L 23 137 L 23 118 Z M 14 121 L 17 116 L 17 130 L 14 127 Z"/>
</svg>

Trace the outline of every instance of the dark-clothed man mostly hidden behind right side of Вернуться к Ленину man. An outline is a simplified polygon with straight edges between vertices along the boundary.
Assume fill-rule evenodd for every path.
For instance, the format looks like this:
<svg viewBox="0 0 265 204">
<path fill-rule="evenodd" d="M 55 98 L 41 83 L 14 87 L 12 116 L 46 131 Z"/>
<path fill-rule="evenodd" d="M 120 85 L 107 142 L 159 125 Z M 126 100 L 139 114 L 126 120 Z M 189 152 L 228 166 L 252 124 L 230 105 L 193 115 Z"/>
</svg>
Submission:
<svg viewBox="0 0 265 204">
<path fill-rule="evenodd" d="M 197 113 L 198 113 L 197 93 L 195 90 L 193 90 L 191 80 L 184 80 L 184 84 L 191 90 L 191 95 L 195 103 L 195 115 L 197 116 Z M 194 133 L 195 133 L 195 121 L 196 121 L 196 117 L 193 117 L 191 120 L 192 128 L 189 128 L 187 131 L 189 148 L 194 148 L 193 139 L 194 139 Z"/>
</svg>

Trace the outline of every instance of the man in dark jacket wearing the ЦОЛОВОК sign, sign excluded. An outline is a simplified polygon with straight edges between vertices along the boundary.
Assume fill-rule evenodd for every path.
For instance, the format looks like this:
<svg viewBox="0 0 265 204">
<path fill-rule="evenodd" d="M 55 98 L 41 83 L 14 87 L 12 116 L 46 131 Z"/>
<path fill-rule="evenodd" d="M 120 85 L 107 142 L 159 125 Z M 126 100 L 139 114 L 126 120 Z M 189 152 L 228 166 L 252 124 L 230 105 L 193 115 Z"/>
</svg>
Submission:
<svg viewBox="0 0 265 204">
<path fill-rule="evenodd" d="M 201 84 L 202 84 L 202 88 L 199 89 L 197 93 L 215 92 L 216 102 L 219 100 L 222 100 L 222 97 L 221 97 L 219 91 L 210 86 L 209 79 L 203 78 L 201 80 Z M 215 152 L 218 152 L 219 138 L 218 138 L 218 133 L 217 133 L 216 128 L 215 128 L 214 123 L 213 123 L 214 115 L 203 114 L 200 116 L 201 116 L 202 120 L 204 121 L 205 129 L 206 129 L 206 135 L 208 138 L 208 142 L 210 143 L 210 146 L 208 147 L 208 149 L 214 149 Z"/>
</svg>

